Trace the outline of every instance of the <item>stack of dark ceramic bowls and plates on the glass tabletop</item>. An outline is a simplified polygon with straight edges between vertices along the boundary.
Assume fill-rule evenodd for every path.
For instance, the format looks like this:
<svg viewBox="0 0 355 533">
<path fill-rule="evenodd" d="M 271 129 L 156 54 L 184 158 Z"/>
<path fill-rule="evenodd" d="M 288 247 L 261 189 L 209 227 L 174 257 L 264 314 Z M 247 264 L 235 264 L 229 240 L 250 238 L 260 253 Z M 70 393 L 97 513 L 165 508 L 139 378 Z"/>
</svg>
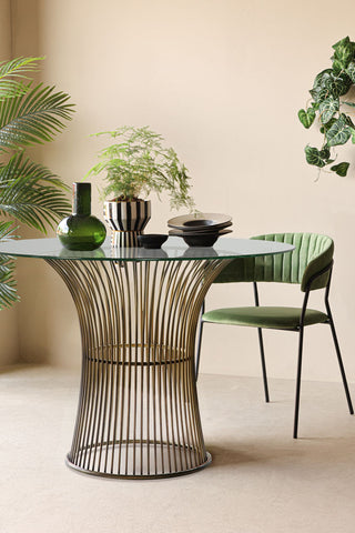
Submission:
<svg viewBox="0 0 355 533">
<path fill-rule="evenodd" d="M 232 217 L 199 213 L 175 217 L 168 221 L 169 234 L 181 237 L 189 247 L 213 247 L 219 237 L 231 233 Z"/>
</svg>

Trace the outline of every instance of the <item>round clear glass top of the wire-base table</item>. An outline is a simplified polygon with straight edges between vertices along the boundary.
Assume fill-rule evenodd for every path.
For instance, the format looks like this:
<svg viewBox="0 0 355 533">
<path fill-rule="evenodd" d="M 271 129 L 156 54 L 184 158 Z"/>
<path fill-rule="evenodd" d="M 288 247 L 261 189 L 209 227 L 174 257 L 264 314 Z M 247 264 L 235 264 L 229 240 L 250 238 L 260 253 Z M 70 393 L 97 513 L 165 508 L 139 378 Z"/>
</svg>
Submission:
<svg viewBox="0 0 355 533">
<path fill-rule="evenodd" d="M 181 238 L 170 237 L 158 250 L 144 248 L 111 248 L 108 238 L 101 248 L 71 251 L 58 239 L 19 239 L 0 242 L 0 253 L 13 257 L 82 261 L 182 261 L 194 259 L 233 259 L 291 252 L 295 247 L 284 242 L 254 239 L 220 238 L 213 247 L 191 248 Z"/>
</svg>

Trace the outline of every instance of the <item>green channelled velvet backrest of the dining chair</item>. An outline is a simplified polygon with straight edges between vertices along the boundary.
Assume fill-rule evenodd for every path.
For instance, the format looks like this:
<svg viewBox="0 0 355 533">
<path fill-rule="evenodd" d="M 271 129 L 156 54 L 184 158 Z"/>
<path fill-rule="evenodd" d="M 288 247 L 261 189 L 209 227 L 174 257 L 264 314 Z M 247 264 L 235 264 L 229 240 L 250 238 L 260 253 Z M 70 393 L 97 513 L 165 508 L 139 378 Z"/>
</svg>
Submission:
<svg viewBox="0 0 355 533">
<path fill-rule="evenodd" d="M 277 241 L 293 244 L 291 253 L 261 255 L 257 258 L 237 258 L 216 278 L 214 283 L 242 281 L 268 281 L 297 283 L 305 291 L 310 278 L 326 268 L 333 259 L 334 242 L 327 235 L 317 233 L 271 233 L 252 237 L 264 241 Z M 312 283 L 311 290 L 326 286 L 329 272 Z"/>
</svg>

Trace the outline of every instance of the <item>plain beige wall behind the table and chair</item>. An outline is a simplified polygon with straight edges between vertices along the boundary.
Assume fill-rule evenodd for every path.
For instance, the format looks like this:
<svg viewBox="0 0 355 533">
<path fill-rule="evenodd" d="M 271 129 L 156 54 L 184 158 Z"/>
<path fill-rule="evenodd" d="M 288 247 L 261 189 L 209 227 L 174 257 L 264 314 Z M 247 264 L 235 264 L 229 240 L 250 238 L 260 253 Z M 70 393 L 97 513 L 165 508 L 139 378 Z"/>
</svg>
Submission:
<svg viewBox="0 0 355 533">
<path fill-rule="evenodd" d="M 324 173 L 316 181 L 303 147 L 318 139 L 296 118 L 314 76 L 328 64 L 331 46 L 346 34 L 355 39 L 354 2 L 342 2 L 336 21 L 333 13 L 328 0 L 40 1 L 43 79 L 77 103 L 73 122 L 45 147 L 43 160 L 71 183 L 95 161 L 99 142 L 90 133 L 149 124 L 190 169 L 199 209 L 232 214 L 235 237 L 268 231 L 332 235 L 332 301 L 354 381 L 355 165 L 347 179 Z M 348 154 L 353 163 L 354 153 Z M 152 200 L 149 229 L 166 231 L 169 205 Z M 101 215 L 97 197 L 94 211 Z M 69 294 L 49 268 L 26 265 L 31 271 L 22 271 L 20 279 L 22 358 L 79 365 Z M 290 289 L 290 296 L 301 301 Z M 274 302 L 272 295 L 286 301 L 283 290 L 267 286 L 264 294 L 264 302 Z M 207 305 L 251 301 L 250 288 L 214 286 Z M 260 374 L 255 331 L 207 326 L 204 341 L 202 371 Z M 327 329 L 308 330 L 306 346 L 305 376 L 337 380 Z M 266 350 L 271 375 L 295 375 L 296 335 L 270 333 Z"/>
</svg>

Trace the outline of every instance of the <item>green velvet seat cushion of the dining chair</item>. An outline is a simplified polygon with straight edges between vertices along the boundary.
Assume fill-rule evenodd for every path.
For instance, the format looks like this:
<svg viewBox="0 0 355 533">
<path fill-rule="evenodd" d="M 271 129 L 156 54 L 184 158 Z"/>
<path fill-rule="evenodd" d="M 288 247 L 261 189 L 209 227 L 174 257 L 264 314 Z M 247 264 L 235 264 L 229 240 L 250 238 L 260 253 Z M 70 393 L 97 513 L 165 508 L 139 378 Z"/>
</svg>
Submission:
<svg viewBox="0 0 355 533">
<path fill-rule="evenodd" d="M 253 328 L 271 328 L 276 330 L 296 329 L 301 320 L 300 308 L 224 308 L 214 309 L 203 314 L 204 322 L 231 325 L 250 325 Z M 304 324 L 312 325 L 326 322 L 327 315 L 315 309 L 307 309 Z"/>
</svg>

